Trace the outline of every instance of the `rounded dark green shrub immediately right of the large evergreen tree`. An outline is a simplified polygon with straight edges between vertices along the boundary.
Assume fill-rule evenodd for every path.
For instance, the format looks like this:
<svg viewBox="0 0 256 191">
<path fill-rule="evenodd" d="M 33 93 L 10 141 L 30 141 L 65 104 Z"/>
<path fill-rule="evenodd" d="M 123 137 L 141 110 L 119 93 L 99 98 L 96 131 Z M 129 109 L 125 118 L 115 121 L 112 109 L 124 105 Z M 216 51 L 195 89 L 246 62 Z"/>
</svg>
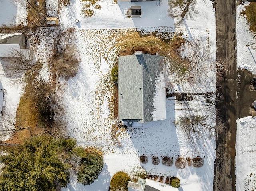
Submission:
<svg viewBox="0 0 256 191">
<path fill-rule="evenodd" d="M 77 181 L 83 185 L 90 185 L 98 176 L 103 168 L 103 158 L 96 152 L 87 153 L 81 158 L 78 166 Z"/>
</svg>

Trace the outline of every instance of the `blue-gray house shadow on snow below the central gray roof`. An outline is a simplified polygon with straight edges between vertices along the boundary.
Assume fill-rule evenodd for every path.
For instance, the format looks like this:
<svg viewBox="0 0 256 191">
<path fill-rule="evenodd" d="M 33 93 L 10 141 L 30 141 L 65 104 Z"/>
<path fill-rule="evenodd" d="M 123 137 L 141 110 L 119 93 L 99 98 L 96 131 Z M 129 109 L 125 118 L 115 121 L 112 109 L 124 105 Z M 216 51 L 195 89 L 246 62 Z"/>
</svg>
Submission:
<svg viewBox="0 0 256 191">
<path fill-rule="evenodd" d="M 146 169 L 148 175 L 176 176 L 178 169 L 175 167 L 175 158 L 180 156 L 180 145 L 177 137 L 175 121 L 175 100 L 174 97 L 166 100 L 166 120 L 148 122 L 143 127 L 130 127 L 126 131 L 137 151 L 148 157 L 146 164 L 141 166 Z M 121 143 L 122 144 L 122 143 Z M 152 163 L 152 156 L 158 156 L 158 165 Z M 162 158 L 168 156 L 173 158 L 171 166 L 162 164 Z"/>
</svg>

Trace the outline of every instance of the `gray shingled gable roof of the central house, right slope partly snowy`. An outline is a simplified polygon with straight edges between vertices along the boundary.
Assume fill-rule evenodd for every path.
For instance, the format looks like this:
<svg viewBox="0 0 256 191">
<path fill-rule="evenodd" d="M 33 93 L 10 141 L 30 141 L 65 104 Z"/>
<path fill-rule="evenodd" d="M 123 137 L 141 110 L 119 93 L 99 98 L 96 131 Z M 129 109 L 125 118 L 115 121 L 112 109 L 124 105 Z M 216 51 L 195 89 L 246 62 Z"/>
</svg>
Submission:
<svg viewBox="0 0 256 191">
<path fill-rule="evenodd" d="M 118 57 L 119 120 L 152 122 L 166 119 L 164 57 Z"/>
</svg>

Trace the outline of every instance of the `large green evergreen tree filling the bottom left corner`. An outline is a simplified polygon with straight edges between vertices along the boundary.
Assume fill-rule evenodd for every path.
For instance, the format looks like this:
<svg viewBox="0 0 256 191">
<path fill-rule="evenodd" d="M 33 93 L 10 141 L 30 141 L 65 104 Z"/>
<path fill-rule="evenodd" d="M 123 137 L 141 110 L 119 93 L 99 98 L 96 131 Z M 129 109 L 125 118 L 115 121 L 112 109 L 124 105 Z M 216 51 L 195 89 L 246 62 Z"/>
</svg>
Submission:
<svg viewBox="0 0 256 191">
<path fill-rule="evenodd" d="M 68 184 L 69 166 L 61 160 L 74 148 L 74 139 L 37 136 L 0 156 L 4 164 L 0 191 L 54 191 Z"/>
</svg>

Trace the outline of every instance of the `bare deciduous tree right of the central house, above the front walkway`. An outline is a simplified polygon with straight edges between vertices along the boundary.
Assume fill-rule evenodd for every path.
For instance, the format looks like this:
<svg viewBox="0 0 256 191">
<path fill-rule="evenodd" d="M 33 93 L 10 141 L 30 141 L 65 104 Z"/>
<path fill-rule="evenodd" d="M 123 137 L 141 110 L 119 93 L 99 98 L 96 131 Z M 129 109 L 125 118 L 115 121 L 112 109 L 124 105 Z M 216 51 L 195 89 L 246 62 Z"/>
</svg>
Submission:
<svg viewBox="0 0 256 191">
<path fill-rule="evenodd" d="M 212 57 L 211 43 L 209 39 L 200 38 L 184 45 L 186 55 L 180 52 L 180 57 L 169 57 L 166 59 L 166 85 L 171 92 L 179 88 L 183 100 L 190 100 L 191 86 L 197 93 L 204 93 L 211 99 L 219 97 L 220 94 L 212 92 L 216 82 L 223 80 L 226 65 L 224 62 L 216 61 Z M 188 84 L 190 84 L 188 86 Z M 206 89 L 206 87 L 212 87 Z M 194 91 L 195 92 L 195 91 Z M 215 102 L 213 100 L 213 102 Z"/>
</svg>

